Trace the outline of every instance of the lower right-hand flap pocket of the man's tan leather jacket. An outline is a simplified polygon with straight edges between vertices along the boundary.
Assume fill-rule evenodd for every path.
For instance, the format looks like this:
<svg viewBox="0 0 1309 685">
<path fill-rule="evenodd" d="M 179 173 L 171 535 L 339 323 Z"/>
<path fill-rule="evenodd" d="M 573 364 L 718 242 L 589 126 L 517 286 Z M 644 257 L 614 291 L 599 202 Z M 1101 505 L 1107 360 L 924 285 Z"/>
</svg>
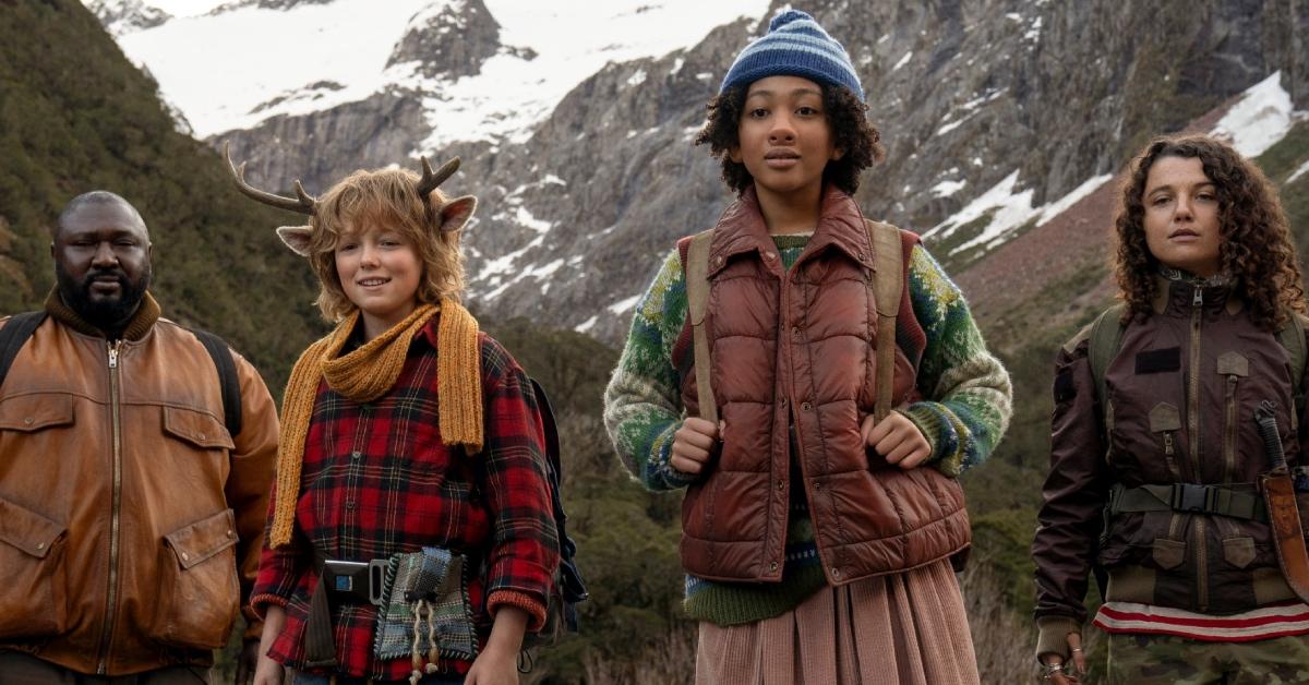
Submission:
<svg viewBox="0 0 1309 685">
<path fill-rule="evenodd" d="M 232 509 L 164 536 L 152 638 L 202 650 L 226 643 L 241 601 L 236 544 Z"/>
</svg>

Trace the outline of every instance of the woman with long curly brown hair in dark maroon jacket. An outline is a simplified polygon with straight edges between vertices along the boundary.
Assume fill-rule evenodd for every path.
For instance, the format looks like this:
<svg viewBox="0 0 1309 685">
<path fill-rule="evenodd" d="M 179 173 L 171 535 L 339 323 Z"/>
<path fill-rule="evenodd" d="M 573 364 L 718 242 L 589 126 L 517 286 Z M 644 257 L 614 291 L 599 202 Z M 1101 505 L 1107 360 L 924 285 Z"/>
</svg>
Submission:
<svg viewBox="0 0 1309 685">
<path fill-rule="evenodd" d="M 1309 606 L 1255 486 L 1261 407 L 1287 462 L 1306 462 L 1304 289 L 1276 193 L 1225 143 L 1161 138 L 1132 164 L 1117 232 L 1123 303 L 1055 367 L 1038 659 L 1054 682 L 1085 671 L 1100 567 L 1110 682 L 1304 682 Z"/>
</svg>

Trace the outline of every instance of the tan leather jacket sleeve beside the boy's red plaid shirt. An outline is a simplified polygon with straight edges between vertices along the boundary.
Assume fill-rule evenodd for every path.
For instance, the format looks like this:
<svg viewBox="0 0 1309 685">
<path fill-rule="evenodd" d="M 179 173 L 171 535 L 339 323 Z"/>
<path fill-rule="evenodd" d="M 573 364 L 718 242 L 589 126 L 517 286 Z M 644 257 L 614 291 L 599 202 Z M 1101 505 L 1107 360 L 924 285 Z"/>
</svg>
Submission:
<svg viewBox="0 0 1309 685">
<path fill-rule="evenodd" d="M 264 517 L 268 513 L 268 491 L 278 460 L 278 407 L 268 394 L 259 372 L 241 355 L 233 352 L 241 381 L 241 435 L 233 437 L 232 470 L 224 486 L 228 506 L 237 519 L 237 567 L 241 578 L 241 610 L 249 627 L 246 638 L 258 638 L 263 622 L 250 609 L 250 591 L 259 570 L 263 547 Z"/>
</svg>

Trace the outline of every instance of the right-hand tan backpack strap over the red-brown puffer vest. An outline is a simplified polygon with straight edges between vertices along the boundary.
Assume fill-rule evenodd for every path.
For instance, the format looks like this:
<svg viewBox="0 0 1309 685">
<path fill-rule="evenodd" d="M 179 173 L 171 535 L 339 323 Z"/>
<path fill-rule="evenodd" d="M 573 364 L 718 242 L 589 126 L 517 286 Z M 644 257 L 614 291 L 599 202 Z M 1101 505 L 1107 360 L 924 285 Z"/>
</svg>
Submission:
<svg viewBox="0 0 1309 685">
<path fill-rule="evenodd" d="M 873 419 L 882 420 L 891 413 L 895 384 L 895 316 L 905 292 L 905 244 L 899 229 L 878 221 L 864 220 L 868 242 L 873 246 L 873 299 L 877 304 L 877 402 Z M 888 337 L 888 333 L 890 334 Z M 889 343 L 889 344 L 884 344 Z"/>
</svg>

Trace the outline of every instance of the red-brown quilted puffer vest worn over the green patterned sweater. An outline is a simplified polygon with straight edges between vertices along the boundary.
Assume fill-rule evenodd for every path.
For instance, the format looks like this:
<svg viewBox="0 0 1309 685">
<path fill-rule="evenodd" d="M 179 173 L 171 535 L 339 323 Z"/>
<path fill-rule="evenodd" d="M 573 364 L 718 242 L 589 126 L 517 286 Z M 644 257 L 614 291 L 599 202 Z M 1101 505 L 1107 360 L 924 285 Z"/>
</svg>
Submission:
<svg viewBox="0 0 1309 685">
<path fill-rule="evenodd" d="M 817 231 L 789 271 L 753 190 L 720 219 L 709 248 L 704 325 L 726 430 L 717 462 L 683 499 L 689 574 L 780 580 L 792 487 L 805 489 L 818 555 L 834 585 L 923 566 L 967 546 L 958 482 L 932 468 L 889 466 L 860 436 L 876 402 L 873 263 L 863 215 L 835 189 L 827 189 Z M 901 305 L 891 304 L 905 312 Z M 894 334 L 888 342 L 894 344 Z M 895 405 L 920 398 L 915 375 L 897 348 Z M 695 415 L 694 364 L 681 377 L 682 402 Z M 789 477 L 792 427 L 801 482 Z"/>
</svg>

